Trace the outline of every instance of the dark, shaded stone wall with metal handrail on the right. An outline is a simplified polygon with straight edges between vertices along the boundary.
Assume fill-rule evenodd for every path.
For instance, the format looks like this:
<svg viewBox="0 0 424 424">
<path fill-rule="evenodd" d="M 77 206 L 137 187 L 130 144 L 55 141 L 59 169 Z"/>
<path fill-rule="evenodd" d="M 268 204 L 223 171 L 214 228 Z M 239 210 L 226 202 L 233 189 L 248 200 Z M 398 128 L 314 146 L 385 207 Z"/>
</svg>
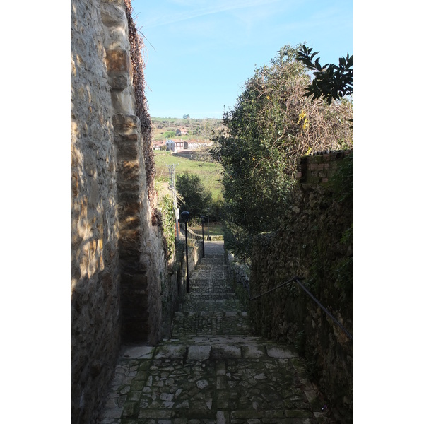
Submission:
<svg viewBox="0 0 424 424">
<path fill-rule="evenodd" d="M 345 154 L 334 155 L 340 163 Z M 329 163 L 327 156 L 307 156 L 309 165 Z M 310 170 L 314 168 L 310 167 Z M 330 169 L 330 167 L 323 168 Z M 332 179 L 305 177 L 296 189 L 281 228 L 254 240 L 252 298 L 294 276 L 353 334 L 353 207 L 339 201 Z M 319 177 L 321 178 L 321 177 Z M 248 302 L 257 334 L 294 343 L 305 355 L 311 376 L 343 423 L 353 419 L 353 341 L 296 283 Z"/>
</svg>

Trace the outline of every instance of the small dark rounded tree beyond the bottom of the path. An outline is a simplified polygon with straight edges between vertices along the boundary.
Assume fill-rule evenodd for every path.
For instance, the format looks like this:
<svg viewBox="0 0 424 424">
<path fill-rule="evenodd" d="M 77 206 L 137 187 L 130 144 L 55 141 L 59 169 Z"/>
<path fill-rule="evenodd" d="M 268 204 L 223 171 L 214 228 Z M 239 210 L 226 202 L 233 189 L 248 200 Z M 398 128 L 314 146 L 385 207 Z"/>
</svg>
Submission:
<svg viewBox="0 0 424 424">
<path fill-rule="evenodd" d="M 177 192 L 182 198 L 178 207 L 180 211 L 189 211 L 190 218 L 201 216 L 211 206 L 212 194 L 206 190 L 199 175 L 189 172 L 177 175 Z"/>
</svg>

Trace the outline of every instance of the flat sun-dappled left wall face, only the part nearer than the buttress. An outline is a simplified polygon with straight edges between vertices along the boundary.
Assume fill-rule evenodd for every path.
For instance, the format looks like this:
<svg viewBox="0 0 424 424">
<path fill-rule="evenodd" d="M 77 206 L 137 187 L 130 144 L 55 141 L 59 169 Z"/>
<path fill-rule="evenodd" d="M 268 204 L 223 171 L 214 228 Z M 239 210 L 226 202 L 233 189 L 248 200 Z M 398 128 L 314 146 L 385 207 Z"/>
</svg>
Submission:
<svg viewBox="0 0 424 424">
<path fill-rule="evenodd" d="M 121 338 L 113 106 L 100 5 L 91 4 L 71 2 L 73 423 L 88 423 L 100 404 Z"/>
</svg>

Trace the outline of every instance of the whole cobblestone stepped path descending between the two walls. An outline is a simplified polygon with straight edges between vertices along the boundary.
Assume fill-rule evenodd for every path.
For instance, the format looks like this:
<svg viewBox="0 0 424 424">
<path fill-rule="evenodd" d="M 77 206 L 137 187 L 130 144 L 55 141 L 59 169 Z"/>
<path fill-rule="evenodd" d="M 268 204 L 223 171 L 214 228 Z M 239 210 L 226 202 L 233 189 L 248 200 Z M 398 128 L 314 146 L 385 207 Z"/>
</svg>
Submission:
<svg viewBox="0 0 424 424">
<path fill-rule="evenodd" d="M 335 423 L 302 359 L 250 333 L 223 242 L 207 242 L 205 253 L 170 340 L 119 358 L 100 423 Z"/>
</svg>

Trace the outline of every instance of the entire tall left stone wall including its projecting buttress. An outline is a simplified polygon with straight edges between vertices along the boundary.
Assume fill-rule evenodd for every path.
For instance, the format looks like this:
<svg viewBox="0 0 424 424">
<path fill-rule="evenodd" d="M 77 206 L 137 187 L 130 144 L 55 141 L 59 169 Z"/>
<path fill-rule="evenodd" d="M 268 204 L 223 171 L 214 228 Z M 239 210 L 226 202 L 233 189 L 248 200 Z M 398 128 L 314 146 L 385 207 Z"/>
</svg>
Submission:
<svg viewBox="0 0 424 424">
<path fill-rule="evenodd" d="M 71 1 L 71 422 L 78 424 L 95 421 L 122 343 L 158 343 L 177 308 L 174 259 L 167 261 L 151 218 L 150 117 L 141 116 L 134 88 L 139 58 L 128 4 Z"/>
</svg>

